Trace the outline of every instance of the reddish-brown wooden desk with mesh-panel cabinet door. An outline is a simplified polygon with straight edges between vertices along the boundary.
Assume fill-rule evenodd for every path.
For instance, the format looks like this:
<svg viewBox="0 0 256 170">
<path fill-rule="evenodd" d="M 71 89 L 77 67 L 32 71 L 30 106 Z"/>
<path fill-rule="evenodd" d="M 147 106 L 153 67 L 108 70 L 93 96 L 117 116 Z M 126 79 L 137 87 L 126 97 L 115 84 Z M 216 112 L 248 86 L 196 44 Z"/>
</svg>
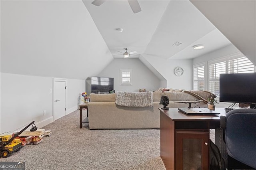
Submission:
<svg viewBox="0 0 256 170">
<path fill-rule="evenodd" d="M 220 115 L 188 116 L 178 108 L 160 109 L 160 156 L 166 170 L 209 169 L 209 130 L 220 127 Z"/>
</svg>

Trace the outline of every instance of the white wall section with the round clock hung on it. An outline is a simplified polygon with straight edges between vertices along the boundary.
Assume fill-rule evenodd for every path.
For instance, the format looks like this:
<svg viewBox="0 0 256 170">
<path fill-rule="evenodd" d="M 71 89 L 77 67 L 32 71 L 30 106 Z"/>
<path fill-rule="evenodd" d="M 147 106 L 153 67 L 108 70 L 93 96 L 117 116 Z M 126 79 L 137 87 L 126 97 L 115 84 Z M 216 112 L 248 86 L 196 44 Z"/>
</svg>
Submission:
<svg viewBox="0 0 256 170">
<path fill-rule="evenodd" d="M 192 59 L 160 59 L 146 54 L 143 56 L 167 80 L 167 88 L 192 89 Z M 178 66 L 184 70 L 180 77 L 174 75 L 174 69 Z"/>
</svg>

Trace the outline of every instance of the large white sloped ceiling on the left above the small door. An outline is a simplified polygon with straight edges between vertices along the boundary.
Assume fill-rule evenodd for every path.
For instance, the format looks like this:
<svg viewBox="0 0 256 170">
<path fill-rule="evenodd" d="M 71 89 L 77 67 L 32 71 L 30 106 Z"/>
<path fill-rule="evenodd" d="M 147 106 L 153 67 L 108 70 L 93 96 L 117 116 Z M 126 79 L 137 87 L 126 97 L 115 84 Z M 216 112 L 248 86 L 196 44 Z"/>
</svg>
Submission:
<svg viewBox="0 0 256 170">
<path fill-rule="evenodd" d="M 1 72 L 86 79 L 112 59 L 82 1 L 1 0 Z"/>
</svg>

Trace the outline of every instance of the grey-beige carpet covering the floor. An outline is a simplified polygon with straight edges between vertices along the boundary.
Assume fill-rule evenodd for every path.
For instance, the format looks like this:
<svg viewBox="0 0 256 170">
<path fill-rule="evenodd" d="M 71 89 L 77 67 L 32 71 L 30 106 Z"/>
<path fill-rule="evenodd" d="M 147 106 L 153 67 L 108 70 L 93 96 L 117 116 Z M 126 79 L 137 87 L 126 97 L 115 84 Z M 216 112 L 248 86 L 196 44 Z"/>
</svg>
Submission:
<svg viewBox="0 0 256 170">
<path fill-rule="evenodd" d="M 26 170 L 165 170 L 159 129 L 80 129 L 79 110 L 43 128 L 52 136 L 0 161 L 24 161 Z"/>
</svg>

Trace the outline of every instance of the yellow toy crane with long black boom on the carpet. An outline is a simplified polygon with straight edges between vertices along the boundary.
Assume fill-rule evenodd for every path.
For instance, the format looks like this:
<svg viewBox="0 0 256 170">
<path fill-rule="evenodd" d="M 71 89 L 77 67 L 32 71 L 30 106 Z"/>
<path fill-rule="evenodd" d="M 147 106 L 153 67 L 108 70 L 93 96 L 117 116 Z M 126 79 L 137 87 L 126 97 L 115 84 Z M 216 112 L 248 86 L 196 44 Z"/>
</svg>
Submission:
<svg viewBox="0 0 256 170">
<path fill-rule="evenodd" d="M 23 145 L 20 139 L 16 139 L 17 136 L 19 136 L 24 130 L 26 130 L 30 125 L 32 125 L 35 121 L 30 123 L 28 126 L 20 130 L 20 132 L 14 134 L 13 136 L 11 135 L 5 135 L 5 136 L 0 136 L 0 151 L 1 151 L 1 157 L 6 158 L 10 156 L 13 152 L 19 151 Z"/>
</svg>

